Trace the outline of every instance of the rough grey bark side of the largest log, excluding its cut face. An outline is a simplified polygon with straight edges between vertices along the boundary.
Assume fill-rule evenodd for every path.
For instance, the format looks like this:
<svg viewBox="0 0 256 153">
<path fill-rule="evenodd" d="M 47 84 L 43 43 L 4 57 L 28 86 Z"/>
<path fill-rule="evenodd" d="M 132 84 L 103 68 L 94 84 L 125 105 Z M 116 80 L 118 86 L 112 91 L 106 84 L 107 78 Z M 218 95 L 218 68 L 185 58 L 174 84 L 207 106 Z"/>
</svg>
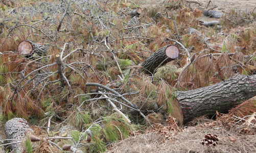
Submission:
<svg viewBox="0 0 256 153">
<path fill-rule="evenodd" d="M 256 75 L 237 75 L 212 86 L 177 91 L 176 99 L 183 113 L 183 123 L 202 115 L 226 113 L 232 107 L 256 95 Z"/>
</svg>

